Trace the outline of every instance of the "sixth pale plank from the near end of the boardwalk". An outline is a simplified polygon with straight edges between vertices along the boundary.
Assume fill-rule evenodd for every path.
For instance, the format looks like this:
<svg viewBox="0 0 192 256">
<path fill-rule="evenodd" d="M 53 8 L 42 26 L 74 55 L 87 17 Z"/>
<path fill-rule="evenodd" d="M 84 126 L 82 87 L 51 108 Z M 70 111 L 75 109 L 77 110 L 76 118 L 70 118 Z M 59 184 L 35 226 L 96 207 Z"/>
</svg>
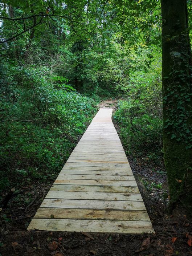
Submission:
<svg viewBox="0 0 192 256">
<path fill-rule="evenodd" d="M 67 184 L 67 185 L 92 185 L 92 186 L 129 186 L 136 187 L 135 181 L 124 180 L 91 180 L 91 179 L 56 179 L 54 184 Z"/>
</svg>

